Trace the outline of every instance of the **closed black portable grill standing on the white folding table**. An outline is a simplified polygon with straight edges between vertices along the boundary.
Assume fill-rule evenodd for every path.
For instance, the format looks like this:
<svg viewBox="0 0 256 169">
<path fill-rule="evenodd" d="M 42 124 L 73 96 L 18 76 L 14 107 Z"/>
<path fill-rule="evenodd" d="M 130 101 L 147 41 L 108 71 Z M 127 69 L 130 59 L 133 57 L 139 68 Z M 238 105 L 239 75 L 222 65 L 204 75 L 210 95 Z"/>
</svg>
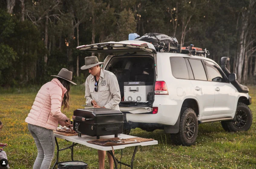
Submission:
<svg viewBox="0 0 256 169">
<path fill-rule="evenodd" d="M 74 130 L 89 136 L 105 136 L 123 133 L 123 113 L 105 108 L 76 109 L 73 112 Z"/>
</svg>

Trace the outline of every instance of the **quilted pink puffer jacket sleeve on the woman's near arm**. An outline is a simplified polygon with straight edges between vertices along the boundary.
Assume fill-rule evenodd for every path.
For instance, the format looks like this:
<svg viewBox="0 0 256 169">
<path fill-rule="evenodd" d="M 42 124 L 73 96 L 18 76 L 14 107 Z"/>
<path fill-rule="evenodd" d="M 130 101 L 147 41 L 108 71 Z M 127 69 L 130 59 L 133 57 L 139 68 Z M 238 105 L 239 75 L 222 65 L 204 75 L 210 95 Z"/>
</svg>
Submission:
<svg viewBox="0 0 256 169">
<path fill-rule="evenodd" d="M 67 116 L 64 115 L 61 109 L 62 103 L 62 90 L 60 87 L 55 87 L 50 91 L 50 98 L 51 98 L 51 115 L 57 118 L 59 121 L 65 121 Z"/>
</svg>

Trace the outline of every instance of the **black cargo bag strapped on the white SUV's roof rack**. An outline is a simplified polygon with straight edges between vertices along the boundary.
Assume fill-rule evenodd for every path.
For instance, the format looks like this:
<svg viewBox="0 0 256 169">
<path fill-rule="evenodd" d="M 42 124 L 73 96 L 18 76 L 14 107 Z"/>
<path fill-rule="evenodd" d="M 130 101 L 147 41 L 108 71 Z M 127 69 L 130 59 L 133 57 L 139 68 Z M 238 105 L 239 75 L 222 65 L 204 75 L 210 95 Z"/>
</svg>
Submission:
<svg viewBox="0 0 256 169">
<path fill-rule="evenodd" d="M 160 34 L 160 33 L 146 33 L 143 36 L 135 38 L 137 41 L 146 41 L 152 43 L 153 45 L 159 45 L 160 42 L 170 43 L 170 46 L 177 47 L 178 41 L 175 37 L 170 37 L 168 35 Z"/>
</svg>

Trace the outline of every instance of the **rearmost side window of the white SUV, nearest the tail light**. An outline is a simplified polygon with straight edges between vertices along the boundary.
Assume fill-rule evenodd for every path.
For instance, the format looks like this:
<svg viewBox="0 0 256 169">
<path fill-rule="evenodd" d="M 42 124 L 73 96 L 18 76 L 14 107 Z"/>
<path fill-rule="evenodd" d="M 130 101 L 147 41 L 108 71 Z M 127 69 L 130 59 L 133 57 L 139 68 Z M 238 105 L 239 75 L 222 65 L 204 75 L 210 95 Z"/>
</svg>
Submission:
<svg viewBox="0 0 256 169">
<path fill-rule="evenodd" d="M 185 59 L 183 57 L 170 57 L 172 74 L 175 78 L 189 79 Z"/>
</svg>

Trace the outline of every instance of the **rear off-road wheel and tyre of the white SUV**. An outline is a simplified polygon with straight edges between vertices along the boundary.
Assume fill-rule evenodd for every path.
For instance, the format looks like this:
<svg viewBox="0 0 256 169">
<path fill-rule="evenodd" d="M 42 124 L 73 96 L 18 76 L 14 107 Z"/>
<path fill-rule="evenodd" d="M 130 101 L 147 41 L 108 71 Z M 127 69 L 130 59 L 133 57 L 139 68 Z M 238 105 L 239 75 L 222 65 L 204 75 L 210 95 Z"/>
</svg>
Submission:
<svg viewBox="0 0 256 169">
<path fill-rule="evenodd" d="M 173 144 L 191 146 L 196 142 L 198 133 L 198 121 L 193 109 L 184 107 L 180 111 L 179 133 L 171 134 Z"/>
</svg>

